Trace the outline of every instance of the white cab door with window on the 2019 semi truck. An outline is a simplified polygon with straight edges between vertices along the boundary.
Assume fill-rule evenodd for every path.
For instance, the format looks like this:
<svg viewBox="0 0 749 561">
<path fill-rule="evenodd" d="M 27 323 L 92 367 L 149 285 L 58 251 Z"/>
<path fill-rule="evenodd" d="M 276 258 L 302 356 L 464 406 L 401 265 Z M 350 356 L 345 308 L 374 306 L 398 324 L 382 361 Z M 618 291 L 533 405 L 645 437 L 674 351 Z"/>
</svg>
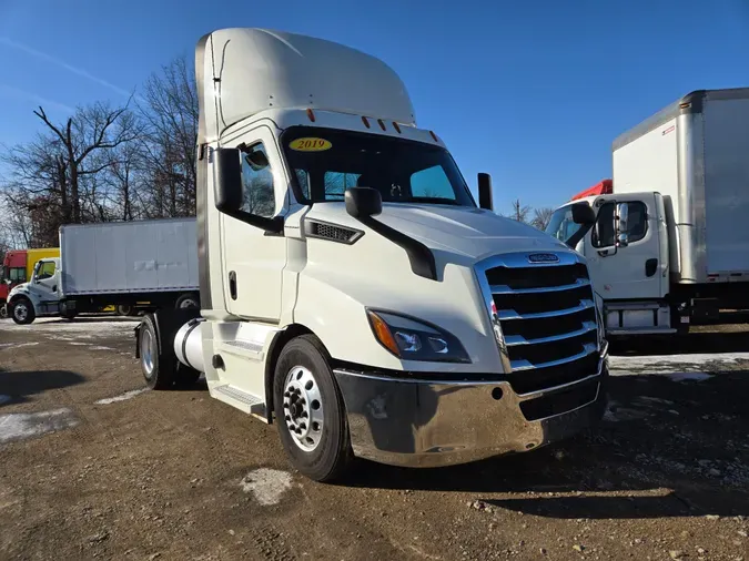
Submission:
<svg viewBox="0 0 749 561">
<path fill-rule="evenodd" d="M 267 126 L 243 133 L 227 147 L 242 149 L 243 211 L 273 217 L 284 214 L 289 181 L 275 137 Z M 277 323 L 286 239 L 221 214 L 226 309 L 236 316 Z"/>
</svg>

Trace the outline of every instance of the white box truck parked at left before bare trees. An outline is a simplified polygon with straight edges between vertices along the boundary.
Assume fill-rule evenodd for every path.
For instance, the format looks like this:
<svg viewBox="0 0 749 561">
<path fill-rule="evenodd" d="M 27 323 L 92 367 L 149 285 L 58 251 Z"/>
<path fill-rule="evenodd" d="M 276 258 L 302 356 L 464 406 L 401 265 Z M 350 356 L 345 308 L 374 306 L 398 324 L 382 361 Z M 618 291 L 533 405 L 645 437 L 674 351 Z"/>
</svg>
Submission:
<svg viewBox="0 0 749 561">
<path fill-rule="evenodd" d="M 39 259 L 8 306 L 17 324 L 30 324 L 110 305 L 198 308 L 198 290 L 195 218 L 65 225 L 60 257 Z"/>
</svg>

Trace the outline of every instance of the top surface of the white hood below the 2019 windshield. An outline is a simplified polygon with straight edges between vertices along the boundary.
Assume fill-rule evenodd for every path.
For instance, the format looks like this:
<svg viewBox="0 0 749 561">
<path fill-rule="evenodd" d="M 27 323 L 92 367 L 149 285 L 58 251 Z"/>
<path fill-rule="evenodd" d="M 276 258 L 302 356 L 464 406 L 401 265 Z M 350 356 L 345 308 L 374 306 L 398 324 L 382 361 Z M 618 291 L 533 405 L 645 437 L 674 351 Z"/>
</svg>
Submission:
<svg viewBox="0 0 749 561">
<path fill-rule="evenodd" d="M 362 224 L 346 213 L 343 203 L 315 204 L 307 216 L 362 228 Z M 418 239 L 431 249 L 472 259 L 523 251 L 570 251 L 564 243 L 533 226 L 482 208 L 384 203 L 382 214 L 375 218 Z"/>
</svg>

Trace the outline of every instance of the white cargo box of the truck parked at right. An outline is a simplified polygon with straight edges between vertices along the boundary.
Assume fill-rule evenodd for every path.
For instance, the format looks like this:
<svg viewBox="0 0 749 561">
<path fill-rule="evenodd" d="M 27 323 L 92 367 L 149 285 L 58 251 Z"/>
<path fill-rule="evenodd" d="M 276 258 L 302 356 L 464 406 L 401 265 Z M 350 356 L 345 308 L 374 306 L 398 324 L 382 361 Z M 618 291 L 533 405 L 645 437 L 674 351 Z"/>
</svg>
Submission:
<svg viewBox="0 0 749 561">
<path fill-rule="evenodd" d="M 749 282 L 749 88 L 689 94 L 613 144 L 614 193 L 672 211 L 677 283 Z"/>
</svg>

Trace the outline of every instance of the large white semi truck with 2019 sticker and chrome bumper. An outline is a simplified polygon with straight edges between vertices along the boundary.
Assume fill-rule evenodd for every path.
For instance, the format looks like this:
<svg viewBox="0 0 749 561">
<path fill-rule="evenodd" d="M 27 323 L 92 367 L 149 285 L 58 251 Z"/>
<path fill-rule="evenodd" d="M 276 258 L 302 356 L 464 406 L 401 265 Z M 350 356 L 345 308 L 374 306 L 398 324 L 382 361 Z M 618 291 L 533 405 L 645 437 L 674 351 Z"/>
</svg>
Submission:
<svg viewBox="0 0 749 561">
<path fill-rule="evenodd" d="M 202 309 L 144 317 L 152 388 L 205 373 L 321 481 L 353 457 L 465 462 L 599 419 L 607 347 L 585 259 L 477 207 L 389 67 L 223 29 L 195 69 Z"/>
</svg>

